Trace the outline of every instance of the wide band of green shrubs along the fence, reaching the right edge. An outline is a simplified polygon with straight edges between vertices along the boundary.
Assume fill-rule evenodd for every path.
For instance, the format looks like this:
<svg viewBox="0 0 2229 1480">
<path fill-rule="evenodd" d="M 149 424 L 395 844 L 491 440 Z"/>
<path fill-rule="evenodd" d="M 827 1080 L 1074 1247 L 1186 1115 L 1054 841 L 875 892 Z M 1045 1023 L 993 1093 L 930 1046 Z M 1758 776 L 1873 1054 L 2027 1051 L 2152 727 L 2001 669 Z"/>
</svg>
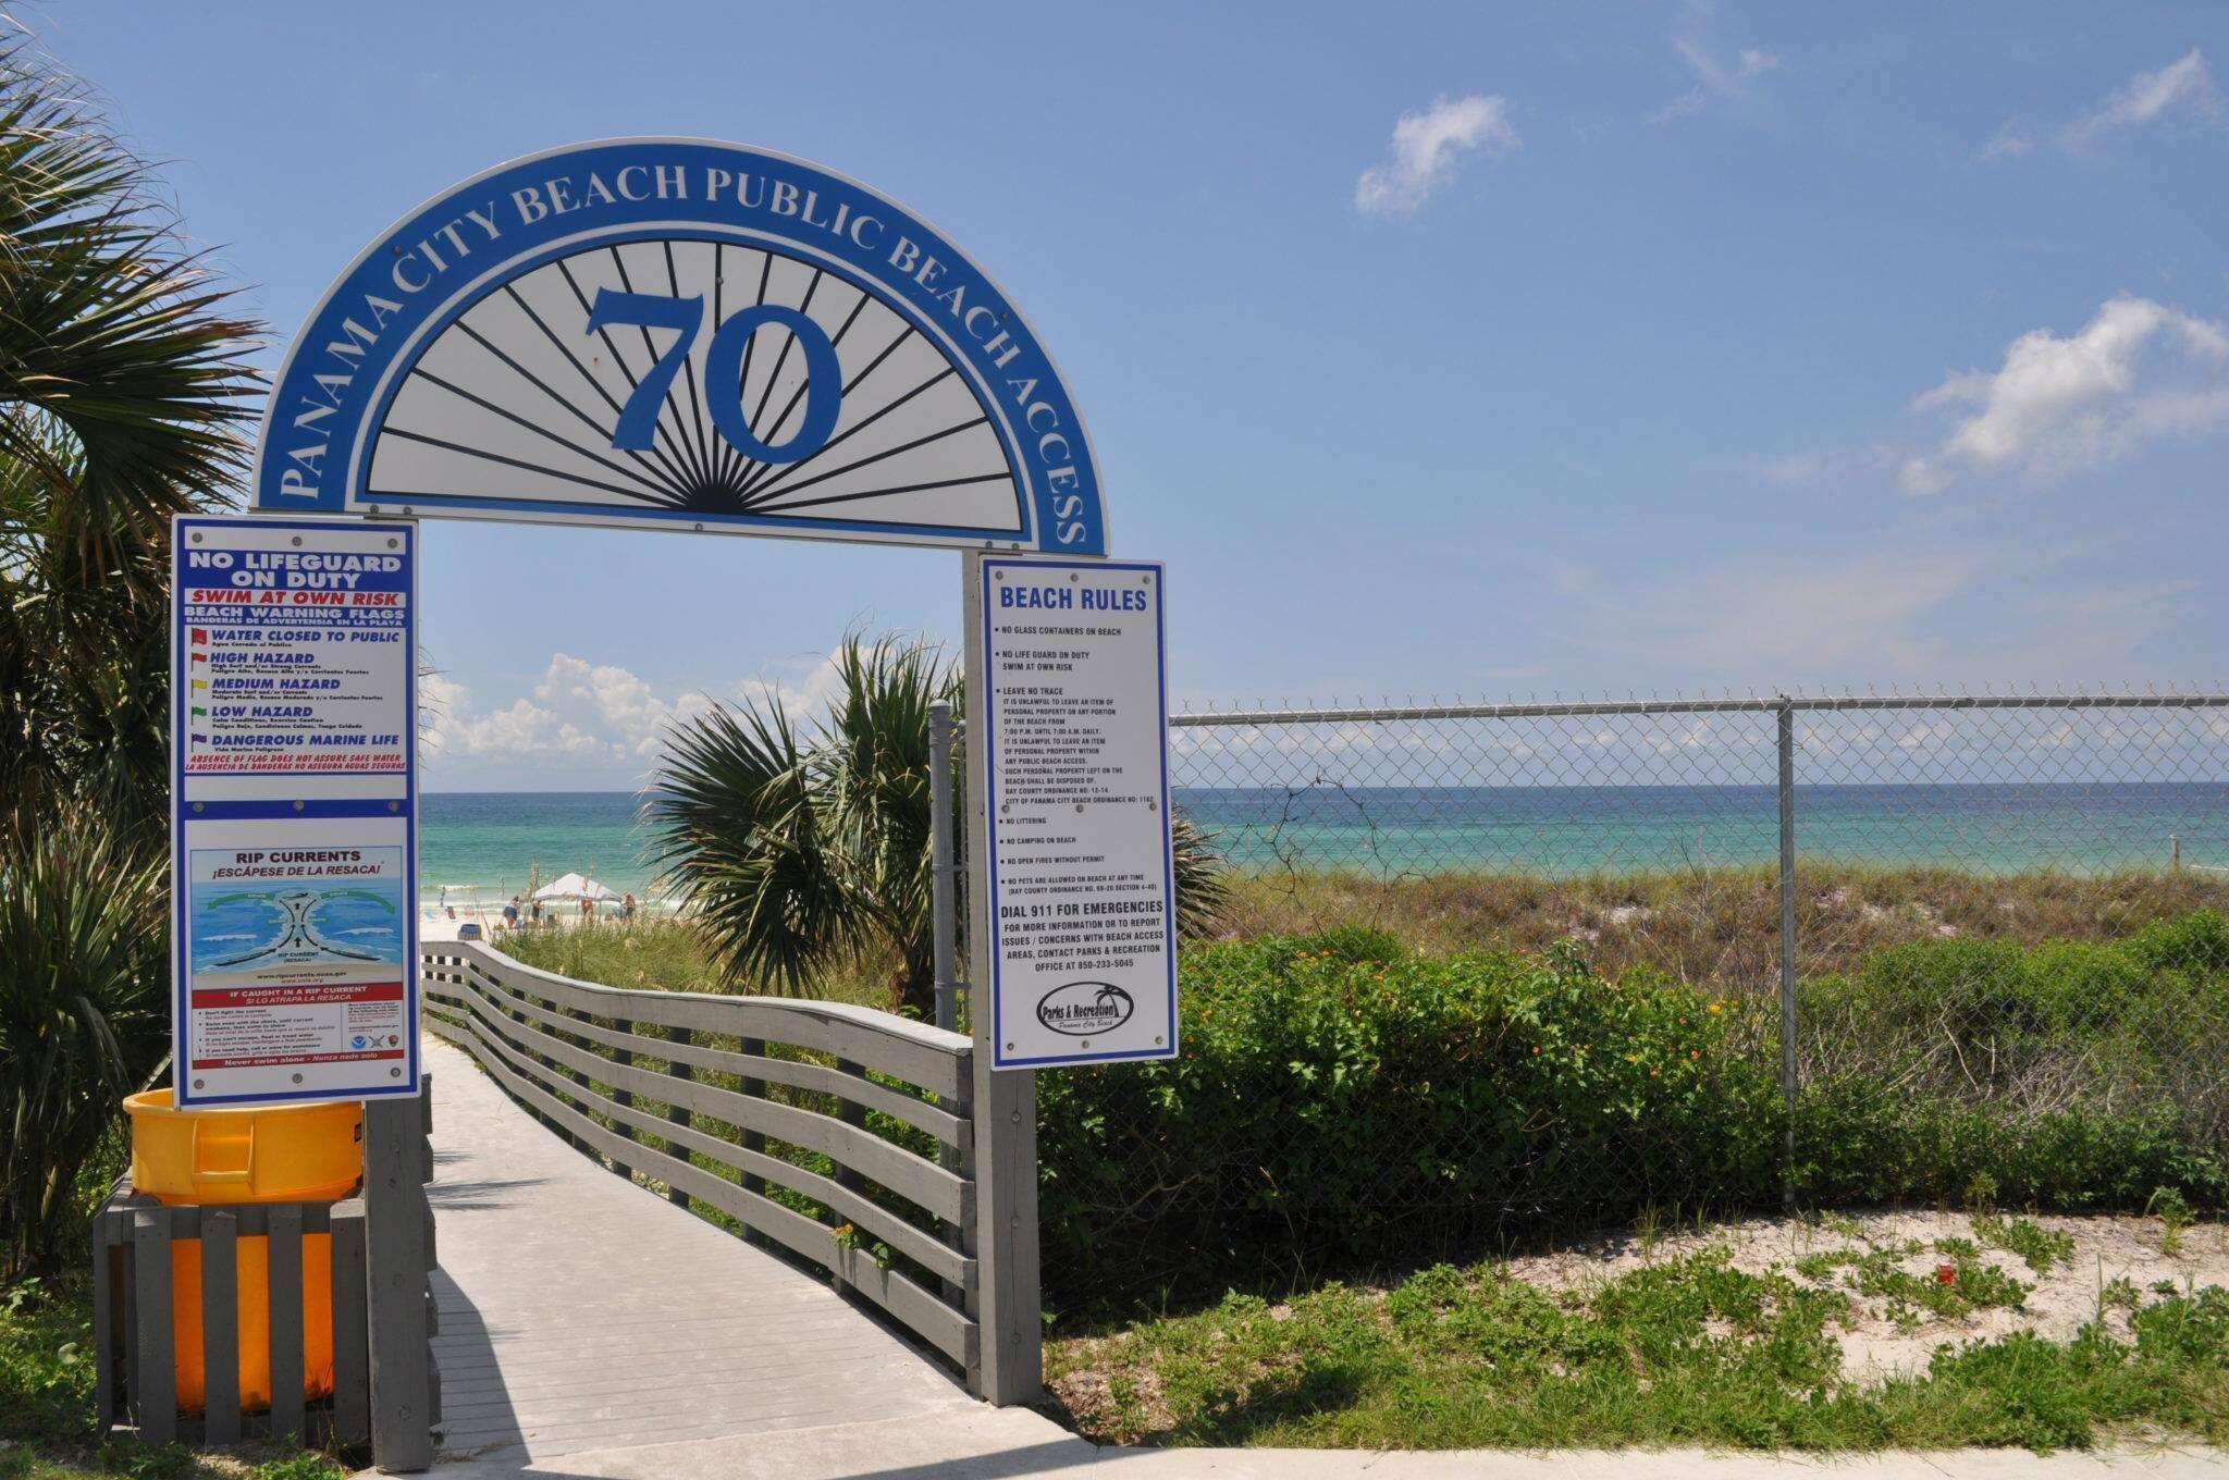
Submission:
<svg viewBox="0 0 2229 1480">
<path fill-rule="evenodd" d="M 2120 945 L 1928 941 L 1803 983 L 1812 1206 L 2229 1204 L 2229 925 Z M 1783 1190 L 1772 1005 L 1571 950 L 1422 956 L 1369 929 L 1184 956 L 1184 1052 L 1039 1081 L 1057 1308 L 1415 1268 Z"/>
</svg>

